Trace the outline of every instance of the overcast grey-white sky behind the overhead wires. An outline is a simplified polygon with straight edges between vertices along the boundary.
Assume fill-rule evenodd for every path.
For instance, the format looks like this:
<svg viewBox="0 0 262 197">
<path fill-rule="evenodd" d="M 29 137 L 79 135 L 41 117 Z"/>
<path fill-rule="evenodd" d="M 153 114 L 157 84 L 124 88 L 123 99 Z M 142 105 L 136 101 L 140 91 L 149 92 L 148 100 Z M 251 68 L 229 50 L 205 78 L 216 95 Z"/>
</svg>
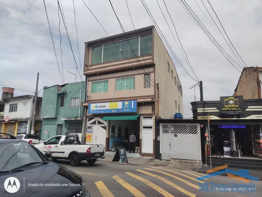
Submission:
<svg viewBox="0 0 262 197">
<path fill-rule="evenodd" d="M 173 51 L 176 53 L 186 70 L 193 76 L 163 18 L 160 8 L 157 5 L 157 1 L 159 2 L 165 17 L 167 18 L 167 22 L 176 38 L 176 33 L 169 15 L 167 14 L 165 5 L 163 4 L 163 0 L 145 0 L 150 12 L 164 36 L 167 38 Z M 61 0 L 61 2 L 66 26 L 73 46 L 73 52 L 80 70 L 80 62 L 81 68 L 83 69 L 83 43 L 105 37 L 106 33 L 89 12 L 88 8 L 86 8 L 82 0 L 74 0 L 81 58 L 79 61 L 73 0 Z M 89 6 L 109 35 L 121 33 L 121 28 L 108 0 L 84 0 L 84 2 Z M 124 30 L 126 32 L 133 30 L 134 27 L 131 23 L 126 1 L 111 0 L 111 2 Z M 127 0 L 127 2 L 136 29 L 153 25 L 153 22 L 142 5 L 141 0 Z M 176 26 L 180 41 L 187 53 L 189 62 L 192 65 L 196 76 L 199 80 L 203 81 L 204 100 L 218 100 L 219 96 L 232 95 L 237 85 L 240 72 L 228 62 L 218 49 L 215 48 L 192 18 L 190 18 L 182 5 L 180 5 L 180 2 L 181 0 L 165 0 L 174 25 Z M 219 22 L 215 17 L 214 12 L 212 12 L 207 0 L 202 0 L 202 2 L 201 0 L 186 0 L 186 2 L 222 48 L 235 60 L 235 62 L 238 62 L 231 50 L 225 44 L 225 41 L 222 40 L 222 35 L 219 33 L 202 4 L 202 2 L 205 4 L 214 21 L 220 28 L 220 31 L 226 38 L 226 35 L 219 25 Z M 261 66 L 262 1 L 210 0 L 210 2 L 231 39 L 231 42 L 246 65 Z M 63 68 L 61 65 L 57 1 L 45 0 L 45 3 L 58 62 L 64 76 L 64 82 L 74 82 L 75 75 L 67 72 L 76 72 L 76 69 L 73 68 L 75 62 L 66 37 L 62 18 L 60 32 L 62 37 L 61 46 L 63 51 Z M 42 88 L 44 85 L 50 86 L 62 84 L 53 52 L 43 1 L 0 0 L 0 29 L 0 84 L 34 92 L 37 72 L 40 73 L 39 88 Z M 192 80 L 183 71 L 171 53 L 170 56 L 173 58 L 173 62 L 176 65 L 176 70 L 183 87 L 183 103 L 185 108 L 182 113 L 185 117 L 191 117 L 192 112 L 190 102 L 194 101 L 195 98 L 193 95 L 194 88 L 191 90 L 189 90 L 189 88 L 196 84 L 196 81 Z M 241 65 L 239 62 L 238 64 Z M 236 67 L 238 68 L 237 65 Z M 241 70 L 240 68 L 238 69 Z M 80 80 L 81 77 L 78 74 L 77 81 Z M 2 85 L 0 85 L 1 89 Z M 30 92 L 15 90 L 16 95 L 24 95 L 28 93 L 31 94 Z M 200 96 L 198 86 L 196 86 L 195 94 L 196 100 L 199 100 Z M 40 92 L 40 95 L 42 95 L 42 92 Z"/>
</svg>

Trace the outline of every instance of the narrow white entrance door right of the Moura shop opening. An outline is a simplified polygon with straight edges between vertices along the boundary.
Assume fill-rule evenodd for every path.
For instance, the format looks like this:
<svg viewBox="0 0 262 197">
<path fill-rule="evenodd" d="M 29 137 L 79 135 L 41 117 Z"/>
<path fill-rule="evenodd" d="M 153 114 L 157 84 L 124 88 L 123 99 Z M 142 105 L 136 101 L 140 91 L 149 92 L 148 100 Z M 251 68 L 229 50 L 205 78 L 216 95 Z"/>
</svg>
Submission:
<svg viewBox="0 0 262 197">
<path fill-rule="evenodd" d="M 143 126 L 142 153 L 153 153 L 153 126 Z"/>
</svg>

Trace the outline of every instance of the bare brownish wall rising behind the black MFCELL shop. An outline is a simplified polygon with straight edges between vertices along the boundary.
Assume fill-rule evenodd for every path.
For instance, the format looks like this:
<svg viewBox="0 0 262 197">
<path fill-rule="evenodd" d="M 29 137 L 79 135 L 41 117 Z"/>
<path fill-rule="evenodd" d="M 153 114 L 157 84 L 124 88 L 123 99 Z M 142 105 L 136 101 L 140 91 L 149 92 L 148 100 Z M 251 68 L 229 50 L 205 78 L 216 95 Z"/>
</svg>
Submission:
<svg viewBox="0 0 262 197">
<path fill-rule="evenodd" d="M 244 99 L 258 99 L 257 68 L 244 69 L 234 95 L 243 95 Z"/>
</svg>

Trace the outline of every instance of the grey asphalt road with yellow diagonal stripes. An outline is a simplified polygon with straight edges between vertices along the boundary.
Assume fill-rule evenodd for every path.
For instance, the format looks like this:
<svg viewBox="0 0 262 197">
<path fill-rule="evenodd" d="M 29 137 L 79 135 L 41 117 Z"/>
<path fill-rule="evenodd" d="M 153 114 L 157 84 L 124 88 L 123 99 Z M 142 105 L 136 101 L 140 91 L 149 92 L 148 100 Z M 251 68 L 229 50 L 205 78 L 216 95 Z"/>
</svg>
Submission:
<svg viewBox="0 0 262 197">
<path fill-rule="evenodd" d="M 92 197 L 260 197 L 262 192 L 262 182 L 260 181 L 249 181 L 249 183 L 247 183 L 243 182 L 243 180 L 236 180 L 226 176 L 215 176 L 203 180 L 206 184 L 208 183 L 207 187 L 204 187 L 205 191 L 199 191 L 199 184 L 202 185 L 203 182 L 197 180 L 197 178 L 204 174 L 190 171 L 179 171 L 175 169 L 170 171 L 170 169 L 102 161 L 98 161 L 94 165 L 89 165 L 83 161 L 77 167 L 70 166 L 69 162 L 64 160 L 60 160 L 57 163 L 81 175 L 86 180 Z M 228 185 L 228 190 L 231 191 L 217 191 L 215 184 Z M 232 190 L 232 184 L 235 185 L 233 188 L 235 187 L 237 191 Z M 251 187 L 245 186 L 247 184 L 254 185 Z M 240 190 L 243 190 L 243 192 Z"/>
</svg>

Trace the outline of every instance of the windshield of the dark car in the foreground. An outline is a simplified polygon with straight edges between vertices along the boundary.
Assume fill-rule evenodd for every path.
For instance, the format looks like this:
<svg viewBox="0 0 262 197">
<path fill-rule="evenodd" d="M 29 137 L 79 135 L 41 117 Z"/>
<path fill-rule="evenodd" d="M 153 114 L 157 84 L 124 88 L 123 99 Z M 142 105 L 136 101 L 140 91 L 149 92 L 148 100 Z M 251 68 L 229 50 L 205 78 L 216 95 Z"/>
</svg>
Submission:
<svg viewBox="0 0 262 197">
<path fill-rule="evenodd" d="M 27 142 L 0 144 L 0 172 L 8 171 L 31 162 L 46 162 L 47 159 Z"/>
</svg>

